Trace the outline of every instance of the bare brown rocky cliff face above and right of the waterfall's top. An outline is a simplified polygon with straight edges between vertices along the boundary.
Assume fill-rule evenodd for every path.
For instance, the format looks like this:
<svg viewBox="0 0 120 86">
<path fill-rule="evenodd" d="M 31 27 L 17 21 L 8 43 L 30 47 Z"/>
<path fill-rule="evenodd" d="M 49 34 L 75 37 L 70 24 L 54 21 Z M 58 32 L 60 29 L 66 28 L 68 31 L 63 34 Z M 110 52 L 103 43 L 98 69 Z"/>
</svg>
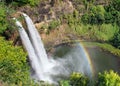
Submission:
<svg viewBox="0 0 120 86">
<path fill-rule="evenodd" d="M 59 18 L 63 14 L 73 13 L 74 8 L 69 0 L 42 1 L 38 6 L 18 8 L 19 11 L 28 14 L 34 23 Z"/>
</svg>

